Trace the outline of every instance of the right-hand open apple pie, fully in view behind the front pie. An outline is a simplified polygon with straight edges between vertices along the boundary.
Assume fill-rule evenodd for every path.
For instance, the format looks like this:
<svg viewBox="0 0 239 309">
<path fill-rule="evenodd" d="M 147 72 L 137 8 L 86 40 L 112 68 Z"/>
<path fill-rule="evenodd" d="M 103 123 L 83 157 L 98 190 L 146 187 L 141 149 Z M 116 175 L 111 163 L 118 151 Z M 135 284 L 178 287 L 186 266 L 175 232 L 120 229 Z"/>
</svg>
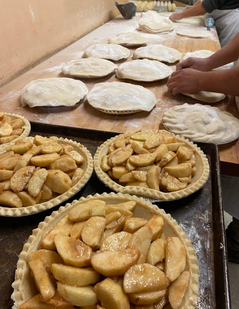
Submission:
<svg viewBox="0 0 239 309">
<path fill-rule="evenodd" d="M 166 130 L 117 135 L 96 151 L 94 169 L 109 188 L 158 200 L 174 200 L 203 187 L 206 156 L 192 142 Z"/>
</svg>

